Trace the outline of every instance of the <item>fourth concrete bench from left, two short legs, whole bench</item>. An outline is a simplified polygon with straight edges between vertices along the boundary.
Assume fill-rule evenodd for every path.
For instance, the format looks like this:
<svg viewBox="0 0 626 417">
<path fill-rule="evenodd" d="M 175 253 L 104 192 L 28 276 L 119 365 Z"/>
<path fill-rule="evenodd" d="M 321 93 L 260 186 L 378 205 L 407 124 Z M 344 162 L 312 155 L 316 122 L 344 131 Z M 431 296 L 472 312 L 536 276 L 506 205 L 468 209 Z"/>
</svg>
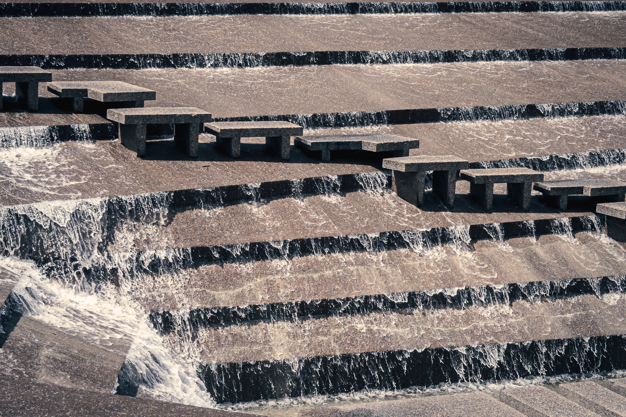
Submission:
<svg viewBox="0 0 626 417">
<path fill-rule="evenodd" d="M 291 136 L 304 129 L 285 121 L 269 122 L 213 122 L 205 123 L 204 131 L 215 135 L 216 146 L 230 158 L 241 155 L 241 138 L 265 136 L 265 144 L 282 159 L 289 159 Z"/>
</svg>

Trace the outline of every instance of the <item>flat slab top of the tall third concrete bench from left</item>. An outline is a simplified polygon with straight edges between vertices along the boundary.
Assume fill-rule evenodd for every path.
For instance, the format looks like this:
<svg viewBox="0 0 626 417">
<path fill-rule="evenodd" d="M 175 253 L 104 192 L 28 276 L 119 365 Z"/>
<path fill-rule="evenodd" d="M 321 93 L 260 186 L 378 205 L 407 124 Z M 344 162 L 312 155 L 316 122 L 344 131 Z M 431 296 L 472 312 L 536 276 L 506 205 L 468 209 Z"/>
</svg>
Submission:
<svg viewBox="0 0 626 417">
<path fill-rule="evenodd" d="M 106 118 L 121 124 L 205 123 L 211 113 L 195 107 L 108 109 Z"/>
</svg>

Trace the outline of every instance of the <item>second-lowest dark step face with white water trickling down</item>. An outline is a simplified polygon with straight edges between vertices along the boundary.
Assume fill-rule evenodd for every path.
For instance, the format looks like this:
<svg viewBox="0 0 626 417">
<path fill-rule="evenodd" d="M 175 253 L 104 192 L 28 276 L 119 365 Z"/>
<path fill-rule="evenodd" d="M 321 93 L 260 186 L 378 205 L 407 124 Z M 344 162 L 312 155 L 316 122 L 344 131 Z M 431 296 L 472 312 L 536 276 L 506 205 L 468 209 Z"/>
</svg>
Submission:
<svg viewBox="0 0 626 417">
<path fill-rule="evenodd" d="M 565 299 L 593 294 L 626 292 L 626 276 L 555 279 L 529 283 L 485 285 L 450 290 L 409 291 L 393 294 L 313 299 L 290 303 L 254 304 L 239 307 L 193 309 L 188 313 L 150 313 L 150 321 L 160 334 L 184 331 L 195 339 L 199 329 L 209 326 L 250 324 L 251 321 L 303 321 L 310 318 L 370 314 L 400 309 L 465 309 L 471 306 L 510 305 L 515 301 Z"/>
</svg>

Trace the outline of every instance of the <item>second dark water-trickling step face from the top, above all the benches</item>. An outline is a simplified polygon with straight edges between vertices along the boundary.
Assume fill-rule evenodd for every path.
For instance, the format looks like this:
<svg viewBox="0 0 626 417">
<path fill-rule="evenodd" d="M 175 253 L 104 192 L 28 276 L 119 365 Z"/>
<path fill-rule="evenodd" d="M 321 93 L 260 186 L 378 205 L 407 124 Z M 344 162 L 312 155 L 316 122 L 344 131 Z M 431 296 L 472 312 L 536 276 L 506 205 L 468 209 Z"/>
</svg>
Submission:
<svg viewBox="0 0 626 417">
<path fill-rule="evenodd" d="M 0 3 L 1 4 L 1 3 Z M 210 54 L 3 54 L 0 66 L 44 69 L 255 68 L 336 64 L 436 64 L 480 61 L 625 59 L 626 48 L 311 51 Z"/>
</svg>

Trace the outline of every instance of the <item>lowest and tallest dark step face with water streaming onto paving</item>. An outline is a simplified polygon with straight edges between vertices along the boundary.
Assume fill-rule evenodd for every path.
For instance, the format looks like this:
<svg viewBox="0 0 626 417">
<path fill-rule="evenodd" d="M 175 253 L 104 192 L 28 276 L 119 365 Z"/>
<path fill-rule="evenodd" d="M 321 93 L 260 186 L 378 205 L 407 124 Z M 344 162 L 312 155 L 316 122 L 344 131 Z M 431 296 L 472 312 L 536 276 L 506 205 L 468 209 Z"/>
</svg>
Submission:
<svg viewBox="0 0 626 417">
<path fill-rule="evenodd" d="M 128 368 L 121 380 L 131 379 Z M 200 366 L 198 376 L 215 401 L 237 403 L 624 368 L 626 336 L 597 336 L 212 364 Z"/>
</svg>

